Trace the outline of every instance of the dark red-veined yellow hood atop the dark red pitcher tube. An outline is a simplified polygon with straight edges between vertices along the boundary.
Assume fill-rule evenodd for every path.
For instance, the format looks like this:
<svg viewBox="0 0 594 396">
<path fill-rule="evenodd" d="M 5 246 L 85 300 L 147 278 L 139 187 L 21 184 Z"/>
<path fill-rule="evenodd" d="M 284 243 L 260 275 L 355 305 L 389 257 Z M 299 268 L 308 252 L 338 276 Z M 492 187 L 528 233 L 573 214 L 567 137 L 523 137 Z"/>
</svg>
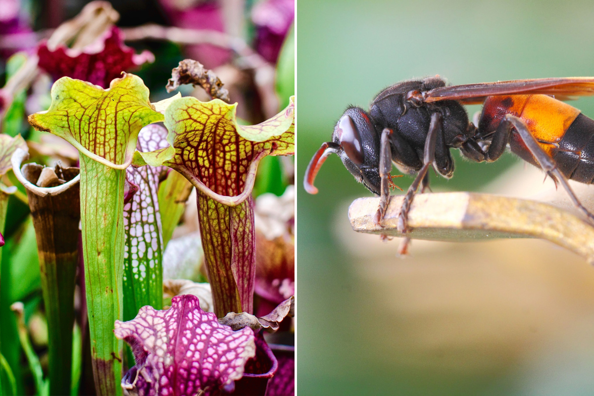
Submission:
<svg viewBox="0 0 594 396">
<path fill-rule="evenodd" d="M 277 117 L 270 123 L 280 125 Z M 178 99 L 170 105 L 165 119 L 168 129 L 175 131 L 176 154 L 166 164 L 200 180 L 220 195 L 241 194 L 252 161 L 261 159 L 263 154 L 288 155 L 295 150 L 292 130 L 279 131 L 263 142 L 245 139 L 236 128 L 235 107 L 220 100 L 204 103 L 191 97 Z M 270 127 L 264 122 L 251 126 L 250 131 L 258 126 Z"/>
</svg>

